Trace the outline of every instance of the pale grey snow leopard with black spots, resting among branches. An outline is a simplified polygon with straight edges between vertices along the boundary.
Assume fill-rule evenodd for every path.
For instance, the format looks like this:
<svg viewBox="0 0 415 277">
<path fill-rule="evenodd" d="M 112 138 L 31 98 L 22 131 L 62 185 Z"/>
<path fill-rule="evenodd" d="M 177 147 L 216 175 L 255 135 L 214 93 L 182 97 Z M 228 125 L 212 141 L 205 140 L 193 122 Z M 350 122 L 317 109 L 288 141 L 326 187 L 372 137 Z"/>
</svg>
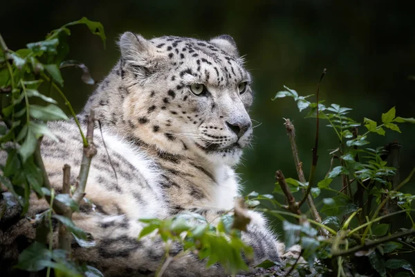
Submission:
<svg viewBox="0 0 415 277">
<path fill-rule="evenodd" d="M 77 115 L 86 132 L 93 109 L 101 128 L 95 124 L 98 154 L 85 190 L 93 208 L 84 199 L 73 214 L 73 222 L 91 233 L 95 246 L 73 242 L 73 257 L 104 276 L 154 276 L 165 247 L 159 238 L 137 240 L 144 226 L 140 218 L 165 219 L 190 211 L 214 221 L 232 210 L 241 195 L 234 168 L 252 140 L 252 77 L 229 35 L 205 41 L 145 39 L 127 32 L 118 45 L 120 60 Z M 51 186 L 62 193 L 62 166 L 71 166 L 74 182 L 82 139 L 74 120 L 50 122 L 48 127 L 58 141 L 44 137 L 42 157 Z M 2 266 L 12 265 L 19 251 L 35 240 L 33 222 L 27 218 L 47 209 L 44 199 L 32 195 L 25 218 L 1 219 Z M 284 244 L 264 215 L 249 215 L 251 222 L 241 235 L 254 250 L 249 266 L 279 262 Z M 174 245 L 170 254 L 180 251 Z M 225 275 L 221 265 L 206 267 L 190 253 L 171 262 L 163 276 Z"/>
</svg>

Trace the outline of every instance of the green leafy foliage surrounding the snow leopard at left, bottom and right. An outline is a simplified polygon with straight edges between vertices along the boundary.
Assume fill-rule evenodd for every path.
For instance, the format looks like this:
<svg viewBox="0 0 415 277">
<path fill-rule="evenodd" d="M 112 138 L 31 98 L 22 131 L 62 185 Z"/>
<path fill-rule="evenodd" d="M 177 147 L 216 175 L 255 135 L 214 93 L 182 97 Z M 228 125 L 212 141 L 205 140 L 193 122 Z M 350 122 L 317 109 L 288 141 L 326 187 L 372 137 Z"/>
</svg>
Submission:
<svg viewBox="0 0 415 277">
<path fill-rule="evenodd" d="M 56 139 L 48 130 L 46 122 L 68 120 L 64 111 L 58 107 L 57 100 L 50 98 L 52 89 L 63 98 L 75 123 L 80 127 L 71 104 L 62 92 L 64 80 L 60 69 L 78 67 L 82 69 L 82 80 L 93 84 L 84 64 L 64 60 L 68 54 L 66 39 L 71 35 L 68 27 L 76 24 L 85 24 L 105 42 L 102 25 L 86 18 L 53 30 L 43 41 L 29 43 L 27 48 L 18 51 L 8 49 L 0 36 L 3 122 L 0 125 L 0 143 L 1 149 L 8 153 L 6 164 L 0 168 L 3 171 L 0 181 L 17 202 L 10 200 L 6 204 L 21 205 L 22 215 L 28 211 L 31 192 L 44 197 L 50 204 L 48 211 L 36 219 L 39 222 L 38 241 L 21 253 L 18 265 L 27 271 L 47 269 L 47 276 L 50 275 L 50 269 L 54 269 L 57 276 L 102 276 L 98 269 L 79 265 L 65 249 L 52 248 L 52 235 L 48 234 L 52 233 L 53 219 L 66 226 L 81 247 L 91 247 L 94 242 L 90 234 L 75 226 L 71 217 L 65 216 L 60 210 L 72 212 L 79 207 L 70 193 L 55 195 L 55 191 L 48 186 L 42 159 L 39 159 L 42 136 Z M 414 274 L 413 266 L 402 257 L 402 253 L 415 249 L 415 224 L 411 215 L 414 195 L 400 192 L 414 170 L 407 179 L 399 182 L 394 178 L 396 167 L 387 161 L 388 157 L 394 159 L 391 148 L 396 145 L 392 143 L 387 148 L 368 148 L 367 145 L 370 136 L 384 136 L 385 132 L 390 131 L 400 132 L 400 123 L 415 123 L 415 119 L 396 116 L 393 107 L 382 114 L 380 123 L 369 118 L 363 118 L 362 123 L 359 123 L 349 117 L 350 108 L 337 104 L 326 106 L 324 101 L 318 100 L 310 102 L 308 99 L 311 96 L 299 96 L 297 91 L 288 87 L 285 89 L 279 91 L 275 99 L 293 98 L 300 112 L 308 111 L 306 118 L 317 118 L 317 123 L 318 120 L 326 120 L 327 127 L 333 130 L 334 139 L 340 142 L 338 148 L 330 152 L 331 163 L 323 165 L 328 168 L 324 179 L 314 181 L 315 164 L 308 181 L 300 176 L 298 180 L 279 177 L 273 194 L 282 194 L 287 199 L 291 197 L 295 200 L 292 193 L 297 197 L 301 191 L 302 201 L 288 206 L 278 202 L 273 194 L 261 195 L 255 192 L 244 198 L 248 208 L 282 220 L 287 247 L 294 244 L 302 247 L 301 256 L 306 262 L 288 260 L 285 264 L 288 273 L 295 267 L 301 276 L 310 271 L 334 273 L 337 276 Z M 363 127 L 365 132 L 360 134 Z M 80 136 L 84 147 L 88 146 L 89 141 L 81 128 Z M 298 155 L 295 152 L 293 154 Z M 299 209 L 309 195 L 311 201 L 307 202 L 312 211 L 311 216 Z M 311 205 L 314 201 L 322 205 L 319 211 Z M 267 208 L 269 204 L 273 208 Z M 3 215 L 7 207 L 0 208 L 0 215 Z M 241 240 L 241 231 L 249 223 L 249 218 L 243 217 L 244 211 L 243 206 L 236 206 L 232 211 L 219 215 L 217 222 L 207 222 L 205 217 L 196 213 L 181 213 L 167 220 L 143 219 L 141 222 L 147 225 L 138 239 L 147 235 L 159 235 L 165 242 L 166 254 L 158 270 L 159 276 L 169 262 L 190 252 L 205 259 L 207 266 L 219 262 L 230 274 L 236 274 L 240 269 L 247 269 L 246 259 L 252 256 L 252 249 Z M 412 223 L 410 229 L 396 230 L 388 221 L 399 213 L 405 213 Z M 324 216 L 322 220 L 320 215 Z M 293 222 L 293 219 L 297 221 Z M 172 257 L 169 256 L 169 250 L 174 247 L 174 243 L 183 244 L 183 251 Z M 273 261 L 265 261 L 259 267 L 274 265 L 276 263 Z"/>
</svg>

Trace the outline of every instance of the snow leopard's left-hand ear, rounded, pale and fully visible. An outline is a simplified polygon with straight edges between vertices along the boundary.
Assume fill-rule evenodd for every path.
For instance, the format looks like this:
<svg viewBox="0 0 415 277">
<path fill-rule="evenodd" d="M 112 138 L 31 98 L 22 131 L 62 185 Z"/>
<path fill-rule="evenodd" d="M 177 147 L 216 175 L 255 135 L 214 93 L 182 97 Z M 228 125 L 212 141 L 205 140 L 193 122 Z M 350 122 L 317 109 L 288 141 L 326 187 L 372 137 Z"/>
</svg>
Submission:
<svg viewBox="0 0 415 277">
<path fill-rule="evenodd" d="M 118 45 L 122 59 L 132 66 L 151 69 L 163 60 L 163 55 L 157 52 L 156 46 L 141 35 L 126 32 L 122 34 Z"/>
</svg>

